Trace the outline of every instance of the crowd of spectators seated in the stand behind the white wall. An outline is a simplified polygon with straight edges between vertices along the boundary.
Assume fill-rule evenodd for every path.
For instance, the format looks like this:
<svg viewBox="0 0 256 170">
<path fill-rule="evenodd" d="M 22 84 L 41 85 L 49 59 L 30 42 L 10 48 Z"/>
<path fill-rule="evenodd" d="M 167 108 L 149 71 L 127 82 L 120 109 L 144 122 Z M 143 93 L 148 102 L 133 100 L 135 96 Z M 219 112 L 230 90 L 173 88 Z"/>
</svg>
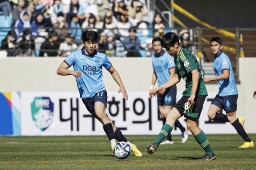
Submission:
<svg viewBox="0 0 256 170">
<path fill-rule="evenodd" d="M 0 34 L 0 46 L 7 56 L 66 57 L 82 48 L 84 30 L 94 30 L 107 56 L 150 57 L 152 39 L 172 30 L 161 14 L 143 20 L 148 13 L 145 0 L 0 0 L 0 17 L 13 28 Z M 180 35 L 184 47 L 188 33 Z"/>
</svg>

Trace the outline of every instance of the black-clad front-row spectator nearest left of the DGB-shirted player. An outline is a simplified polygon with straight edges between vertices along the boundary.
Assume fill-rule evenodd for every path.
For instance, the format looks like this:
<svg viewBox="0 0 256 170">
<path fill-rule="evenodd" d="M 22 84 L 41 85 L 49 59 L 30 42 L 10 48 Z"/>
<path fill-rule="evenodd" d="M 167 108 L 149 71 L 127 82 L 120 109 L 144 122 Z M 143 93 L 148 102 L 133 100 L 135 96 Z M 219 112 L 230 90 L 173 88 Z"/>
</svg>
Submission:
<svg viewBox="0 0 256 170">
<path fill-rule="evenodd" d="M 41 46 L 39 56 L 40 57 L 57 56 L 61 41 L 62 40 L 58 38 L 58 34 L 56 32 L 50 32 L 49 39 L 46 39 Z"/>
</svg>

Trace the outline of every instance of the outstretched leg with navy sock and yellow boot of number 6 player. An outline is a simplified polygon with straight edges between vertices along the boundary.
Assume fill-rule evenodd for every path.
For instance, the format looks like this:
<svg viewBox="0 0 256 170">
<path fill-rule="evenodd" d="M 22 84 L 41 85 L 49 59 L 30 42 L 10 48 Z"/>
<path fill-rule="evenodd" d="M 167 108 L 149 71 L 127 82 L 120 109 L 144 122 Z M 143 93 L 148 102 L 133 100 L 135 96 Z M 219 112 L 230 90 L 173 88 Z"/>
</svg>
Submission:
<svg viewBox="0 0 256 170">
<path fill-rule="evenodd" d="M 244 145 L 238 148 L 251 148 L 254 146 L 253 141 L 249 138 L 247 133 L 245 132 L 243 126 L 241 123 L 239 123 L 238 118 L 236 118 L 236 111 L 234 112 L 227 112 L 228 121 L 231 123 L 231 125 L 234 126 L 237 133 L 241 135 L 241 137 L 244 139 Z"/>
</svg>

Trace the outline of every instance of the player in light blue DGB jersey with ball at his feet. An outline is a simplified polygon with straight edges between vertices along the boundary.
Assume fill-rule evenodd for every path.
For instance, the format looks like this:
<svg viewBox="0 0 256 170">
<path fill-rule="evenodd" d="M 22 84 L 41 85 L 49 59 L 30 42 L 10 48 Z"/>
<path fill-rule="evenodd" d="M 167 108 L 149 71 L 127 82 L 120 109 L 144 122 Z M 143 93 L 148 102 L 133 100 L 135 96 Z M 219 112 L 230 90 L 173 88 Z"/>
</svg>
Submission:
<svg viewBox="0 0 256 170">
<path fill-rule="evenodd" d="M 102 81 L 102 66 L 105 67 L 119 85 L 118 91 L 128 100 L 128 95 L 124 88 L 124 84 L 108 57 L 95 50 L 98 40 L 98 33 L 95 31 L 84 31 L 82 33 L 84 46 L 71 53 L 63 63 L 59 66 L 57 73 L 60 75 L 74 75 L 76 77 L 77 88 L 80 97 L 83 100 L 87 110 L 97 118 L 103 125 L 110 142 L 111 149 L 114 150 L 116 140 L 129 143 L 131 150 L 135 156 L 142 156 L 137 147 L 130 143 L 122 134 L 122 132 L 113 124 L 106 113 L 107 108 L 107 91 Z M 74 67 L 74 71 L 69 71 L 70 66 Z"/>
</svg>

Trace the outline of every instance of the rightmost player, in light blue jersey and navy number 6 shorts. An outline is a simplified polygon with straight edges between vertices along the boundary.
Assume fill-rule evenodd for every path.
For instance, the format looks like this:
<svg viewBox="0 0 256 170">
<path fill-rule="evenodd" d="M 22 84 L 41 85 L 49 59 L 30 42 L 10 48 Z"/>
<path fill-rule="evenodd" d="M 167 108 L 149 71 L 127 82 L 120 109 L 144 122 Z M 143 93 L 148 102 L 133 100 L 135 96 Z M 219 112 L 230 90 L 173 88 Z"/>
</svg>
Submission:
<svg viewBox="0 0 256 170">
<path fill-rule="evenodd" d="M 254 143 L 248 137 L 244 129 L 244 118 L 236 118 L 236 101 L 238 98 L 238 91 L 229 57 L 221 50 L 222 40 L 219 37 L 213 37 L 210 45 L 214 54 L 213 69 L 216 77 L 208 79 L 204 78 L 204 82 L 217 81 L 219 85 L 219 92 L 212 100 L 208 116 L 211 120 L 230 122 L 231 125 L 234 126 L 237 133 L 241 135 L 245 141 L 244 145 L 238 148 L 253 147 Z M 222 109 L 226 111 L 227 116 L 222 113 L 218 113 Z"/>
</svg>

